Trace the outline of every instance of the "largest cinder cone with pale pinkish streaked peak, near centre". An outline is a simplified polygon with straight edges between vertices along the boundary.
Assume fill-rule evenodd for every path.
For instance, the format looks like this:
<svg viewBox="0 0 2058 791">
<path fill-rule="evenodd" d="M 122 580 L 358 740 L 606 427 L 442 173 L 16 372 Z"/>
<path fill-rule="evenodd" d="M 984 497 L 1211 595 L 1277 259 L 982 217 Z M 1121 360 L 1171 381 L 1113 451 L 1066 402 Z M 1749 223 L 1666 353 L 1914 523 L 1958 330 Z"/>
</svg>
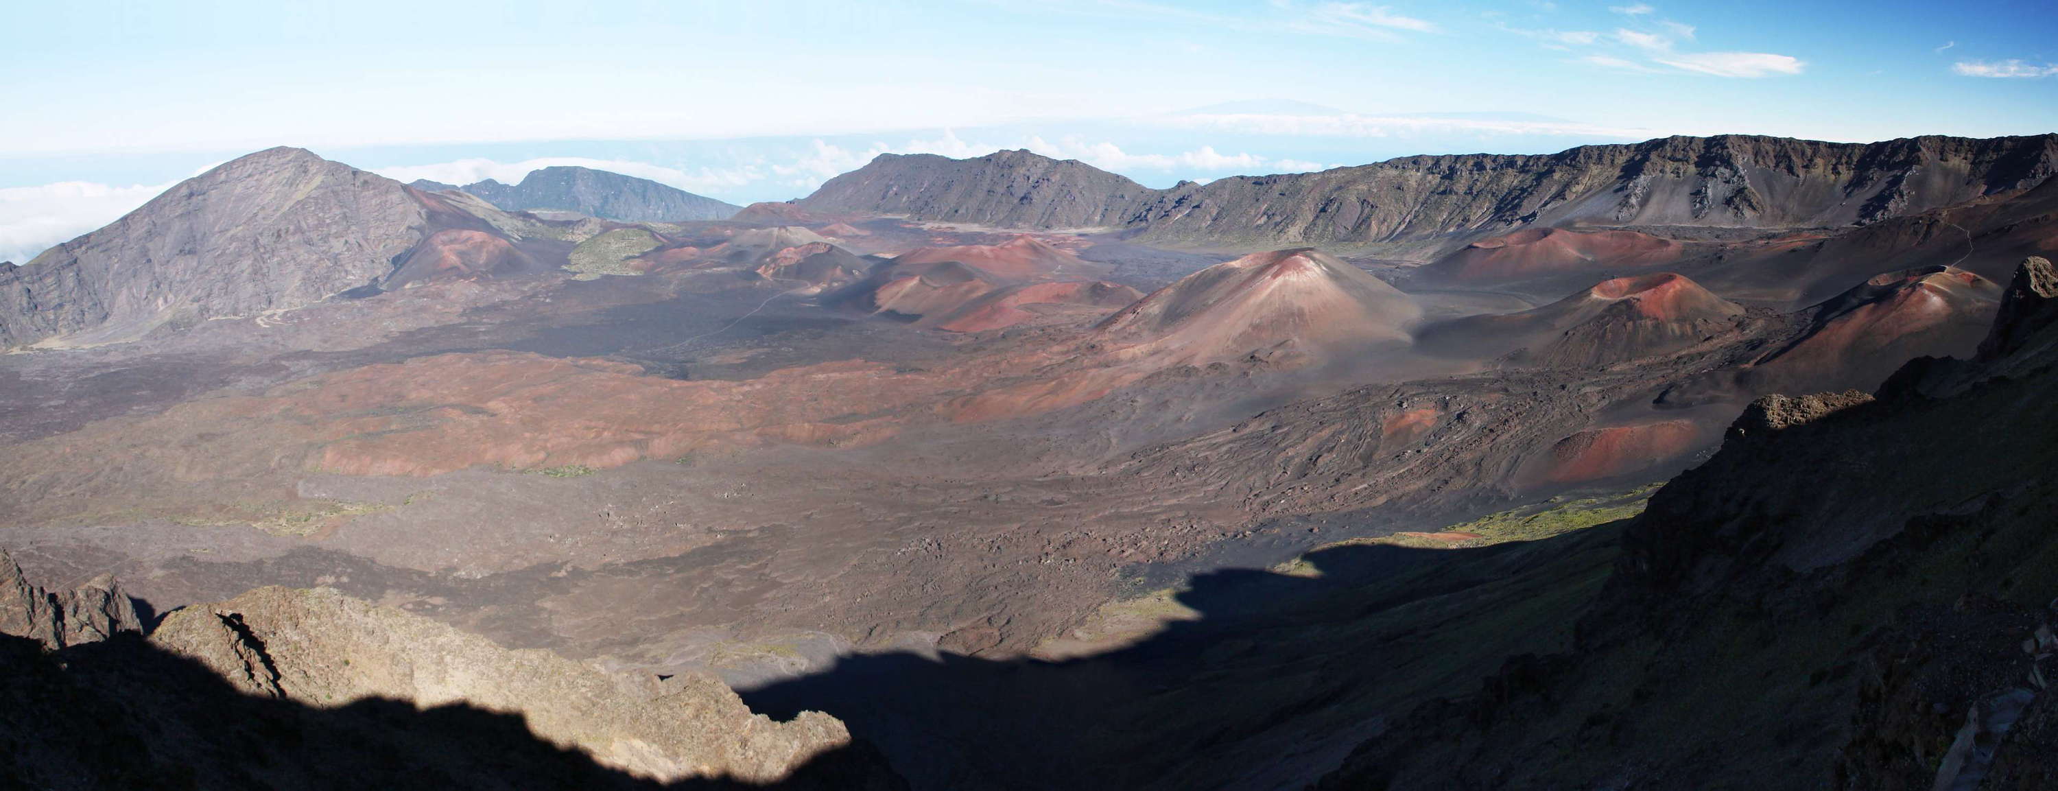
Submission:
<svg viewBox="0 0 2058 791">
<path fill-rule="evenodd" d="M 1126 356 L 1165 363 L 1243 358 L 1288 348 L 1329 354 L 1406 342 L 1414 301 L 1356 266 L 1313 249 L 1251 253 L 1210 266 L 1111 315 L 1099 334 Z"/>
</svg>

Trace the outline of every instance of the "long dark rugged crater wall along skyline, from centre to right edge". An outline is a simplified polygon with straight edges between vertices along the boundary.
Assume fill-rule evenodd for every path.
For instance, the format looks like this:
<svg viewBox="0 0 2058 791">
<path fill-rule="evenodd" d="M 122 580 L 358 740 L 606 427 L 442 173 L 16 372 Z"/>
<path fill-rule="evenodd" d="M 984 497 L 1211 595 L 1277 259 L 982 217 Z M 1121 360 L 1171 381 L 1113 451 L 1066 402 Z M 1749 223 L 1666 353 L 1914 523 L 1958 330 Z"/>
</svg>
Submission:
<svg viewBox="0 0 2058 791">
<path fill-rule="evenodd" d="M 823 183 L 801 206 L 1031 229 L 1122 227 L 1187 243 L 1406 243 L 1581 222 L 1854 227 L 2029 190 L 2054 169 L 2058 134 L 1871 144 L 1677 136 L 1148 190 L 1083 163 L 1008 150 L 961 161 L 885 154 Z"/>
</svg>

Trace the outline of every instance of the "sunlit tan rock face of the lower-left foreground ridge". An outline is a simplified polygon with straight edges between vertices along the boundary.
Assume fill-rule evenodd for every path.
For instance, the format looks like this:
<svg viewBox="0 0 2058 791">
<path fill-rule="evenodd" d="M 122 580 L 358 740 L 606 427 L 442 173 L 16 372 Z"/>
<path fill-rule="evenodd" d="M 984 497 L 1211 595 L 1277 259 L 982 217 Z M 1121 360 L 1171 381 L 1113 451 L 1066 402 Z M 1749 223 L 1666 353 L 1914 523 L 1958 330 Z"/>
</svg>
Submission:
<svg viewBox="0 0 2058 791">
<path fill-rule="evenodd" d="M 313 707 L 364 698 L 521 713 L 539 737 L 657 781 L 770 783 L 850 744 L 844 723 L 753 715 L 720 680 L 628 678 L 331 589 L 263 587 L 165 618 L 152 643 L 198 659 L 249 694 Z"/>
</svg>

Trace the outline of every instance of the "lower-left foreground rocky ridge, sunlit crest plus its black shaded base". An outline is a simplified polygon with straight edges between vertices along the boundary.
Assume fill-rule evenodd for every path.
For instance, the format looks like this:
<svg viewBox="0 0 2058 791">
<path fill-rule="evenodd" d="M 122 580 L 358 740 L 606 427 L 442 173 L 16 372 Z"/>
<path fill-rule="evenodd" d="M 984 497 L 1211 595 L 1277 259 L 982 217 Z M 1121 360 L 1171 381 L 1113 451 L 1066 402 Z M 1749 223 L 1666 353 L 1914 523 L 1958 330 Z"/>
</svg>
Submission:
<svg viewBox="0 0 2058 791">
<path fill-rule="evenodd" d="M 144 639 L 111 581 L 54 595 L 0 552 L 0 667 L 8 787 L 897 787 L 833 717 L 778 723 L 710 676 L 615 676 L 329 589 L 183 608 Z"/>
</svg>

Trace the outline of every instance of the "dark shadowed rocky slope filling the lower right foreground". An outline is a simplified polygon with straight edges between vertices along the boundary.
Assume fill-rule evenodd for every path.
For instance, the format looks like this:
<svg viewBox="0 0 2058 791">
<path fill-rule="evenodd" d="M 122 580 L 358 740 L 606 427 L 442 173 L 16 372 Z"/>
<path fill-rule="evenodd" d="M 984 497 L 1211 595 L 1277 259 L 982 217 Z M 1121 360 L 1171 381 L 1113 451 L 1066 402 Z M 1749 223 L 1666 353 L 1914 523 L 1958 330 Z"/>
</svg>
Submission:
<svg viewBox="0 0 2058 791">
<path fill-rule="evenodd" d="M 1651 498 L 1566 653 L 1395 717 L 1336 789 L 2058 785 L 2058 272 L 1972 360 L 1772 396 Z"/>
</svg>

